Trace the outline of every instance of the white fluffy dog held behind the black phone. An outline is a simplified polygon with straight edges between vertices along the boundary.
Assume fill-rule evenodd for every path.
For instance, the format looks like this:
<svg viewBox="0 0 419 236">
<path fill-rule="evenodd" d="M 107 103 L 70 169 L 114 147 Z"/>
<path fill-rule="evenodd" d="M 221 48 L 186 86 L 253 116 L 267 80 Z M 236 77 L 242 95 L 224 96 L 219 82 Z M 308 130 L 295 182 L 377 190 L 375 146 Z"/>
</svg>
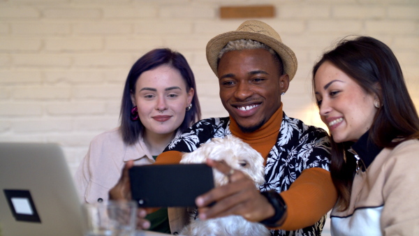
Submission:
<svg viewBox="0 0 419 236">
<path fill-rule="evenodd" d="M 224 138 L 213 138 L 200 145 L 194 152 L 182 156 L 180 163 L 205 163 L 207 158 L 225 161 L 231 168 L 241 170 L 248 175 L 258 188 L 265 182 L 263 157 L 243 142 L 240 138 L 228 135 Z M 221 186 L 228 183 L 228 177 L 213 169 L 214 184 Z M 196 210 L 191 213 L 191 223 L 181 235 L 270 235 L 270 231 L 260 223 L 247 221 L 242 216 L 225 216 L 217 219 L 200 221 Z"/>
</svg>

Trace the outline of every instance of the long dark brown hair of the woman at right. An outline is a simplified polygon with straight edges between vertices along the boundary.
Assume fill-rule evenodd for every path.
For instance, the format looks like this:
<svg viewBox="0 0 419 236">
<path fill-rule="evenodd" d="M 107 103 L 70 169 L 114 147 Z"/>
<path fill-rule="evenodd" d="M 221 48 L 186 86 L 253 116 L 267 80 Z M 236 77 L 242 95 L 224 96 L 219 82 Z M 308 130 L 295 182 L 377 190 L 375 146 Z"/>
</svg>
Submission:
<svg viewBox="0 0 419 236">
<path fill-rule="evenodd" d="M 313 68 L 314 77 L 318 68 L 330 61 L 351 77 L 367 93 L 375 94 L 380 101 L 369 129 L 369 138 L 378 147 L 395 147 L 403 140 L 395 138 L 419 138 L 419 118 L 415 105 L 409 96 L 402 69 L 390 47 L 380 40 L 368 36 L 341 40 L 335 49 L 323 54 Z M 337 188 L 339 210 L 348 208 L 355 171 L 354 158 L 346 158 L 352 142 L 336 143 L 330 140 L 332 161 L 330 172 Z"/>
</svg>

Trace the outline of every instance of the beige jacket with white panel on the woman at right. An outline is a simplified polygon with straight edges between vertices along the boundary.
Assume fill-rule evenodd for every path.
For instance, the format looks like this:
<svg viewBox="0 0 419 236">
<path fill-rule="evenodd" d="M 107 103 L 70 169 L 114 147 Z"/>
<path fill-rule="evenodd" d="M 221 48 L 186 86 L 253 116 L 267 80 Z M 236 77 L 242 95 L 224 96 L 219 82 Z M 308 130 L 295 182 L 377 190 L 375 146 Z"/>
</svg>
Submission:
<svg viewBox="0 0 419 236">
<path fill-rule="evenodd" d="M 419 235 L 418 163 L 419 140 L 383 149 L 355 175 L 348 209 L 332 209 L 332 235 Z"/>
</svg>

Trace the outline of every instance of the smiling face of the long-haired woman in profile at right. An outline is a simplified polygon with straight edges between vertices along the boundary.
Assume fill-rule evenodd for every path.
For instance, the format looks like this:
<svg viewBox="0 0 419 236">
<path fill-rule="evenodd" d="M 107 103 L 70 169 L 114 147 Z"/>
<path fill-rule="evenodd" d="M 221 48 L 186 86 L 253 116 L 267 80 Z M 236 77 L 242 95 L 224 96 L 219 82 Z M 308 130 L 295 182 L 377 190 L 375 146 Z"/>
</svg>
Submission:
<svg viewBox="0 0 419 236">
<path fill-rule="evenodd" d="M 330 61 L 319 66 L 314 81 L 321 119 L 333 140 L 357 141 L 372 125 L 377 96 L 362 89 Z"/>
</svg>

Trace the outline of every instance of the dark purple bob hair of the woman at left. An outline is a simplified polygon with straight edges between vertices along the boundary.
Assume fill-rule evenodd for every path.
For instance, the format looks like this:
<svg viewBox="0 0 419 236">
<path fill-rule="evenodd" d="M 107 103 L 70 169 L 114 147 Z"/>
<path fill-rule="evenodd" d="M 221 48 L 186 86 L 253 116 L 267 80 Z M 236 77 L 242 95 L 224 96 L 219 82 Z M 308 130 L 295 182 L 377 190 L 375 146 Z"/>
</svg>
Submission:
<svg viewBox="0 0 419 236">
<path fill-rule="evenodd" d="M 184 121 L 179 128 L 177 128 L 177 131 L 184 131 L 193 123 L 200 120 L 201 112 L 196 92 L 196 82 L 192 70 L 184 56 L 179 52 L 172 51 L 168 48 L 149 51 L 131 67 L 128 77 L 126 78 L 124 93 L 122 94 L 121 111 L 119 114 L 121 126 L 119 128 L 122 132 L 124 142 L 128 145 L 132 145 L 138 141 L 144 128 L 140 119 L 136 121 L 131 120 L 131 109 L 133 108 L 131 93 L 135 94 L 135 83 L 143 72 L 150 71 L 161 65 L 168 65 L 177 69 L 186 82 L 186 92 L 191 88 L 195 91 L 191 103 L 192 108 L 186 112 Z"/>
</svg>

